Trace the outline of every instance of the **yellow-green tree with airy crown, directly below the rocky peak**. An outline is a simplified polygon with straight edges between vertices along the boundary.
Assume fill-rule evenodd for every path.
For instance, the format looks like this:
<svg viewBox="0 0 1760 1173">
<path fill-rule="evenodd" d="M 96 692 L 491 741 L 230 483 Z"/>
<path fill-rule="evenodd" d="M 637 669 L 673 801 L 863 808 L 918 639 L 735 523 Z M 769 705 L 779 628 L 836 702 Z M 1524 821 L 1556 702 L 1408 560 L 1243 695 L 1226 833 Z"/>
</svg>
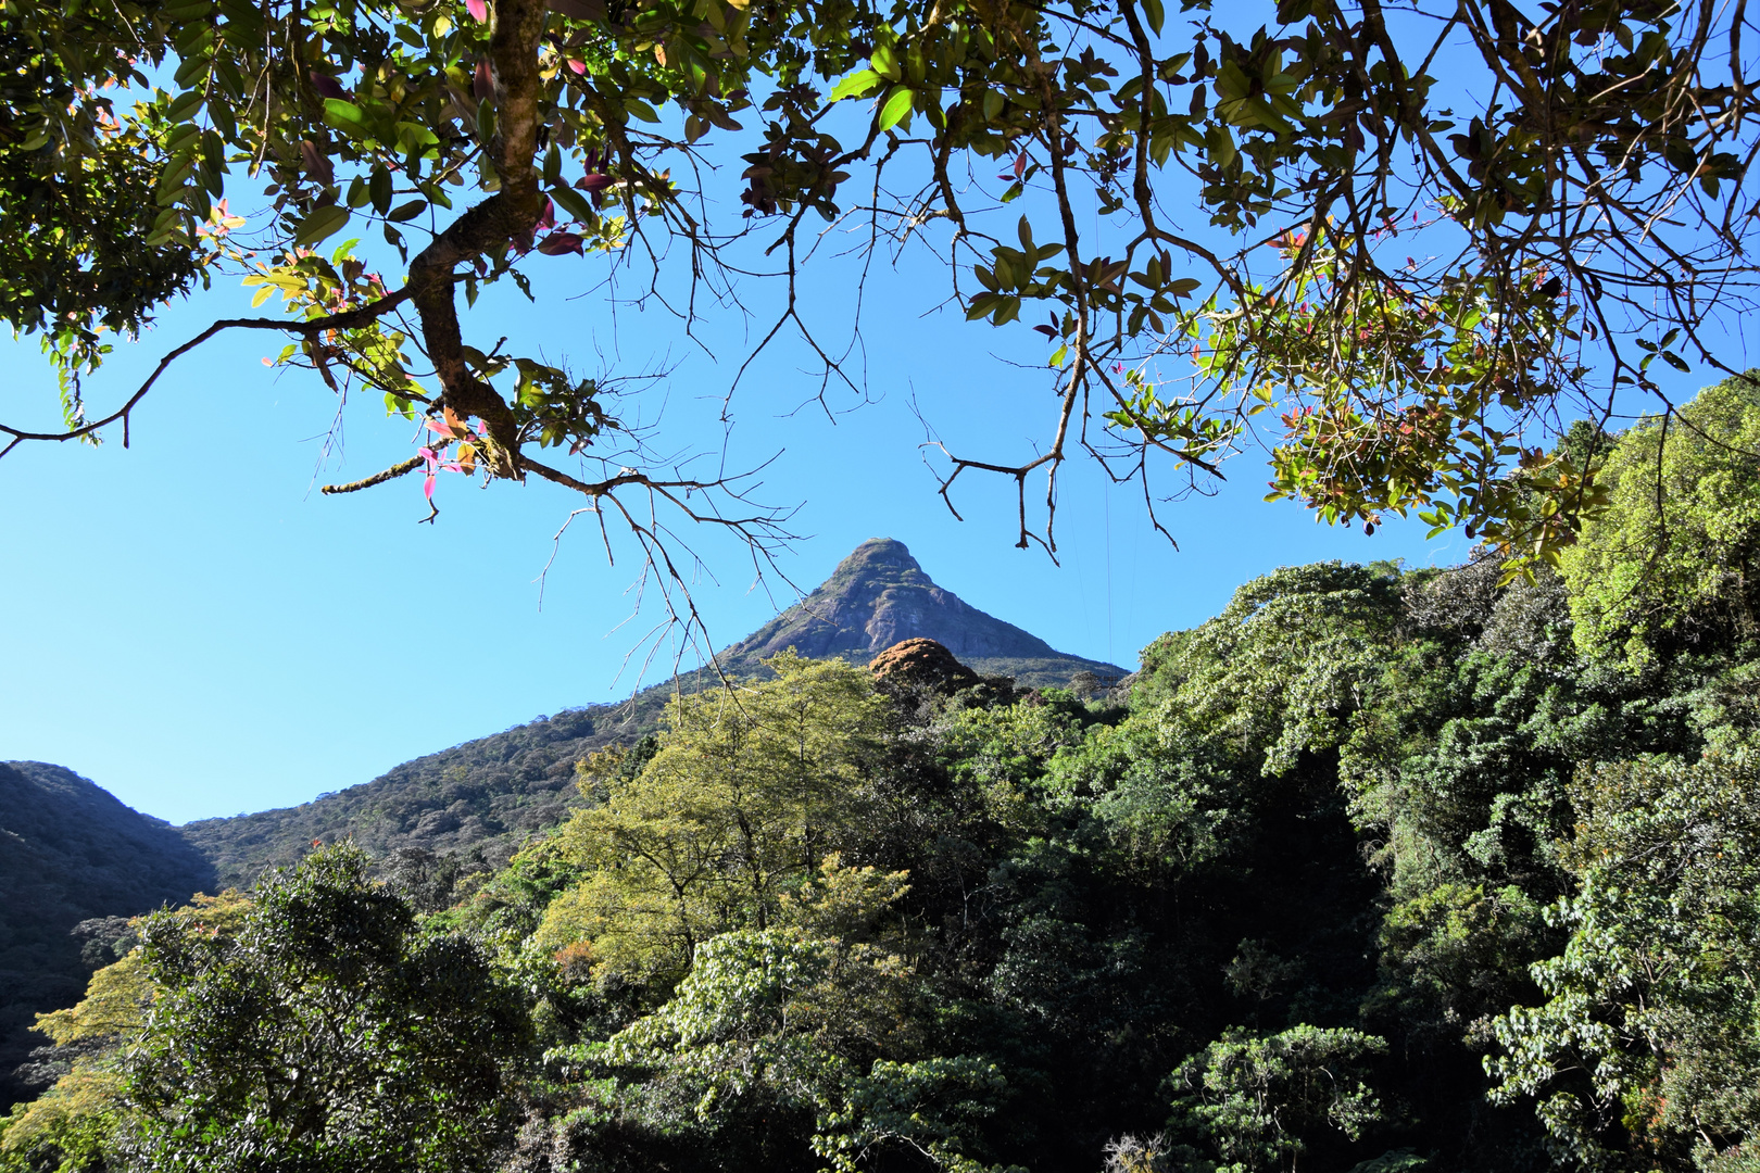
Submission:
<svg viewBox="0 0 1760 1173">
<path fill-rule="evenodd" d="M 767 663 L 774 681 L 679 696 L 641 774 L 560 832 L 588 876 L 551 906 L 540 943 L 590 941 L 604 974 L 671 985 L 716 932 L 767 927 L 848 839 L 884 702 L 841 659 Z"/>
</svg>

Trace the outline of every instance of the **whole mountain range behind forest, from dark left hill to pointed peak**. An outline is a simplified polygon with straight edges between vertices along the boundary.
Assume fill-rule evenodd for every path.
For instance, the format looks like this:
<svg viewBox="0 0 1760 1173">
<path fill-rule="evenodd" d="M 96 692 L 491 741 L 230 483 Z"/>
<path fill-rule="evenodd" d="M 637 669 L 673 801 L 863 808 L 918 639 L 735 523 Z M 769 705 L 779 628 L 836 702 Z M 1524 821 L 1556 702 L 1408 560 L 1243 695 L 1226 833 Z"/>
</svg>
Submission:
<svg viewBox="0 0 1760 1173">
<path fill-rule="evenodd" d="M 720 652 L 729 675 L 764 672 L 762 659 L 794 647 L 804 656 L 868 663 L 910 638 L 943 644 L 984 675 L 1017 684 L 1068 684 L 1125 670 L 1067 656 L 935 586 L 903 542 L 862 542 L 808 594 Z M 480 856 L 507 860 L 533 834 L 583 802 L 574 763 L 595 749 L 632 744 L 658 728 L 676 688 L 715 677 L 695 672 L 620 705 L 591 705 L 431 753 L 384 776 L 297 807 L 201 820 L 181 828 L 125 807 L 77 774 L 37 761 L 0 767 L 0 1080 L 42 1039 L 32 1015 L 70 1006 L 127 927 L 120 918 L 195 892 L 248 886 L 296 862 L 312 841 L 354 839 L 375 855 L 433 869 Z M 473 863 L 466 863 L 470 867 Z M 447 881 L 451 883 L 451 881 Z M 106 920 L 107 918 L 107 920 Z M 77 932 L 76 932 L 77 930 Z M 28 1073 L 26 1073 L 28 1078 Z M 0 1083 L 0 1099 L 23 1085 Z"/>
</svg>

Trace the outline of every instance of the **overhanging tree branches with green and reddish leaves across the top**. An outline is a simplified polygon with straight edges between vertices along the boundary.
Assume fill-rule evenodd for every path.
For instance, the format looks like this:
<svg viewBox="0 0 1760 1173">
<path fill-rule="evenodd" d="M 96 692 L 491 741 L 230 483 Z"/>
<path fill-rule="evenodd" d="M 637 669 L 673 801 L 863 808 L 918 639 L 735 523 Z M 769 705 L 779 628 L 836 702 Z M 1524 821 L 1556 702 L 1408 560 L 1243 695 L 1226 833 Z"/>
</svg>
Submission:
<svg viewBox="0 0 1760 1173">
<path fill-rule="evenodd" d="M 669 471 L 609 382 L 468 310 L 533 264 L 737 295 L 752 244 L 788 290 L 767 345 L 808 332 L 813 213 L 920 243 L 966 317 L 1042 336 L 1008 336 L 1058 392 L 1037 452 L 942 464 L 949 505 L 968 470 L 1012 477 L 1023 545 L 1054 547 L 1075 454 L 1153 510 L 1151 482 L 1264 441 L 1274 496 L 1327 521 L 1415 510 L 1549 561 L 1603 501 L 1605 447 L 1552 445 L 1565 424 L 1661 396 L 1658 359 L 1728 371 L 1707 329 L 1753 287 L 1742 28 L 1607 0 L 5 0 L 0 315 L 42 334 L 65 427 L 0 434 L 127 441 L 180 353 L 260 329 L 428 420 L 334 491 L 540 477 L 662 565 L 648 503 L 764 549 L 781 515 L 748 482 Z M 215 322 L 88 410 L 109 339 L 216 276 L 282 315 Z"/>
</svg>

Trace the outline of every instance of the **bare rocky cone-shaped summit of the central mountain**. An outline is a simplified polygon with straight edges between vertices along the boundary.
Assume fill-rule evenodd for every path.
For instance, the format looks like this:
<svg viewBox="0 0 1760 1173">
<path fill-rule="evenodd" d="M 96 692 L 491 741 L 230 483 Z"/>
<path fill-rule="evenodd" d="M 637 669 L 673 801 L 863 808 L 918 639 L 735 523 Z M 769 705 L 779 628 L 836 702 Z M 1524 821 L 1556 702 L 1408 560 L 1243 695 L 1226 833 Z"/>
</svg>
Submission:
<svg viewBox="0 0 1760 1173">
<path fill-rule="evenodd" d="M 723 665 L 757 672 L 760 659 L 788 647 L 811 659 L 868 663 L 912 638 L 935 640 L 980 674 L 1012 675 L 1030 686 L 1068 684 L 1082 670 L 1125 675 L 1118 665 L 1067 656 L 935 586 L 905 543 L 892 538 L 862 542 L 817 591 L 729 647 Z"/>
</svg>

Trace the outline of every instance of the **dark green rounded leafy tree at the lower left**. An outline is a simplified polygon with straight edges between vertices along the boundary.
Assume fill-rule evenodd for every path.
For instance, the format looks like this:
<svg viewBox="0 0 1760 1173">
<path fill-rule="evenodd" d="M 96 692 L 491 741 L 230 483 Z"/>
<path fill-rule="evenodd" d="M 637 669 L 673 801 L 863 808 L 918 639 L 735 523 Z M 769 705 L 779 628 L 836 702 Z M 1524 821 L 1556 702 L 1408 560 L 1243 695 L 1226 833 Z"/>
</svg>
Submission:
<svg viewBox="0 0 1760 1173">
<path fill-rule="evenodd" d="M 266 881 L 236 936 L 141 925 L 158 994 L 125 1062 L 143 1169 L 452 1169 L 495 1150 L 519 1001 L 419 934 L 352 848 Z"/>
</svg>

